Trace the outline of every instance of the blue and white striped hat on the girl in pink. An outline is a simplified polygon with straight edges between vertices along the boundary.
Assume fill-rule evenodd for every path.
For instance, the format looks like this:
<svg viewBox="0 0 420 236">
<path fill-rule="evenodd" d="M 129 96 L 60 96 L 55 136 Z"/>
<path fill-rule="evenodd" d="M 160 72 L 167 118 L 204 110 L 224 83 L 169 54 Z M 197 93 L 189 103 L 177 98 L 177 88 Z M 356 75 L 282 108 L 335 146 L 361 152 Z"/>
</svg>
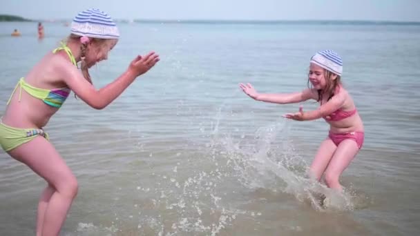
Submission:
<svg viewBox="0 0 420 236">
<path fill-rule="evenodd" d="M 333 50 L 316 52 L 316 54 L 311 58 L 311 63 L 315 63 L 316 65 L 321 66 L 325 70 L 329 70 L 336 75 L 341 76 L 341 74 L 343 74 L 343 61 Z"/>
</svg>

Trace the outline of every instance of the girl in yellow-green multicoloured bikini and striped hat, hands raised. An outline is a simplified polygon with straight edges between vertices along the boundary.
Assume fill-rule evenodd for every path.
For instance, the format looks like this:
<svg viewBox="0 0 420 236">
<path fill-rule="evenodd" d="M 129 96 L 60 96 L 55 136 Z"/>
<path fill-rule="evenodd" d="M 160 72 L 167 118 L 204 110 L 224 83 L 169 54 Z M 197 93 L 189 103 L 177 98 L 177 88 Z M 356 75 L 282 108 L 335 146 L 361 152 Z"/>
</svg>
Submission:
<svg viewBox="0 0 420 236">
<path fill-rule="evenodd" d="M 120 77 L 95 89 L 88 68 L 107 59 L 119 37 L 117 26 L 105 12 L 89 9 L 77 14 L 66 43 L 48 52 L 26 77 L 19 79 L 0 119 L 3 150 L 47 182 L 39 199 L 37 236 L 59 235 L 78 188 L 75 176 L 48 141 L 43 127 L 70 91 L 95 109 L 105 108 L 159 61 L 154 52 L 139 55 Z"/>
</svg>

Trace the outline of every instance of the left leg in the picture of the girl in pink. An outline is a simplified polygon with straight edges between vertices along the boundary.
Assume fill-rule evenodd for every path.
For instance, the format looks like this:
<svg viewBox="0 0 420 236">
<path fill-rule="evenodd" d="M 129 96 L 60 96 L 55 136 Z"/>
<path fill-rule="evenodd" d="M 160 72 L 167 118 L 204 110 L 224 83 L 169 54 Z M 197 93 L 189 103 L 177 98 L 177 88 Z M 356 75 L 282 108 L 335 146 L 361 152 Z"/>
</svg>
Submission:
<svg viewBox="0 0 420 236">
<path fill-rule="evenodd" d="M 323 175 L 325 168 L 327 168 L 328 163 L 332 158 L 332 155 L 336 151 L 337 146 L 332 142 L 330 138 L 325 139 L 321 146 L 318 148 L 318 152 L 314 160 L 312 161 L 311 166 L 309 167 L 310 177 L 319 181 Z"/>
</svg>

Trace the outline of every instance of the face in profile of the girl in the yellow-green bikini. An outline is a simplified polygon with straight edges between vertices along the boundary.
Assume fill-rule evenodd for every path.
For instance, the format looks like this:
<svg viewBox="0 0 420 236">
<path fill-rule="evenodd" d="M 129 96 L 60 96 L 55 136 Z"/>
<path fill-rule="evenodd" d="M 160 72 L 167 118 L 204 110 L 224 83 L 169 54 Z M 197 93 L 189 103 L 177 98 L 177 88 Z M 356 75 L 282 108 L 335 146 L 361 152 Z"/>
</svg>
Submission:
<svg viewBox="0 0 420 236">
<path fill-rule="evenodd" d="M 90 41 L 86 48 L 85 61 L 88 68 L 94 66 L 99 61 L 108 59 L 108 52 L 117 44 L 117 39 L 104 39 L 101 41 Z"/>
</svg>

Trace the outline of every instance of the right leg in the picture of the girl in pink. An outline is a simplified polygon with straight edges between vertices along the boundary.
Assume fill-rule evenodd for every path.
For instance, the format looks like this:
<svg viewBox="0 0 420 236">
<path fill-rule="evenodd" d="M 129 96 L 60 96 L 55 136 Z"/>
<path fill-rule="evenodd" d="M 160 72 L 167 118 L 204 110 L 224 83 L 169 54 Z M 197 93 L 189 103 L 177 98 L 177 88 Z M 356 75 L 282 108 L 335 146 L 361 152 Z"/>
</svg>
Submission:
<svg viewBox="0 0 420 236">
<path fill-rule="evenodd" d="M 343 187 L 340 184 L 341 173 L 349 166 L 359 152 L 359 147 L 356 141 L 352 139 L 345 139 L 338 144 L 337 150 L 332 157 L 330 164 L 325 170 L 325 182 L 327 186 L 338 191 L 342 191 Z"/>
</svg>

